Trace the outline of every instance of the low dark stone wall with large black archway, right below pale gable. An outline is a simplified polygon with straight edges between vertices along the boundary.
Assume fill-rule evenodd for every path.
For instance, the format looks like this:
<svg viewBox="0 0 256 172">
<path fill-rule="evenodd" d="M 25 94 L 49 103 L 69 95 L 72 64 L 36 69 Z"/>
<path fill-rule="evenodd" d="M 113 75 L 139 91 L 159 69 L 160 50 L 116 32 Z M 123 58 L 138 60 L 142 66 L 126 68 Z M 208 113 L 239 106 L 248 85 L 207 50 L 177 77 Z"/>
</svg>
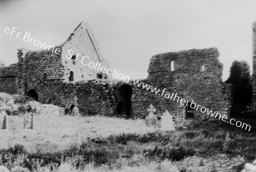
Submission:
<svg viewBox="0 0 256 172">
<path fill-rule="evenodd" d="M 83 116 L 131 116 L 132 87 L 118 80 L 76 82 L 77 103 Z"/>
</svg>

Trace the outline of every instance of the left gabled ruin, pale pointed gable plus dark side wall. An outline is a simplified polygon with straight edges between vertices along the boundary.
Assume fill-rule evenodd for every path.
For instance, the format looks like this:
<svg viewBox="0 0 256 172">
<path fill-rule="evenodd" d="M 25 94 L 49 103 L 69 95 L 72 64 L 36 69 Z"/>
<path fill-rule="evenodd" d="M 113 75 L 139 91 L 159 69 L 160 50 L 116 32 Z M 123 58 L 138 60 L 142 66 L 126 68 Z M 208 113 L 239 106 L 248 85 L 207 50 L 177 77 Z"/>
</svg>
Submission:
<svg viewBox="0 0 256 172">
<path fill-rule="evenodd" d="M 59 51 L 55 51 L 57 48 Z M 68 50 L 73 50 L 76 61 L 70 57 Z M 57 52 L 57 53 L 56 53 Z M 82 65 L 81 57 L 89 56 L 87 62 L 101 62 L 109 68 L 108 61 L 102 58 L 93 32 L 88 23 L 81 22 L 70 37 L 61 45 L 50 50 L 30 51 L 19 49 L 18 63 L 9 67 L 0 66 L 0 92 L 29 95 L 41 103 L 70 107 L 76 102 L 76 82 L 96 79 L 100 71 Z M 69 81 L 73 71 L 73 81 Z M 99 76 L 99 75 L 98 75 Z M 102 75 L 102 78 L 107 78 Z M 89 82 L 90 83 L 90 82 Z M 98 86 L 95 86 L 97 89 Z M 93 98 L 92 98 L 93 99 Z"/>
</svg>

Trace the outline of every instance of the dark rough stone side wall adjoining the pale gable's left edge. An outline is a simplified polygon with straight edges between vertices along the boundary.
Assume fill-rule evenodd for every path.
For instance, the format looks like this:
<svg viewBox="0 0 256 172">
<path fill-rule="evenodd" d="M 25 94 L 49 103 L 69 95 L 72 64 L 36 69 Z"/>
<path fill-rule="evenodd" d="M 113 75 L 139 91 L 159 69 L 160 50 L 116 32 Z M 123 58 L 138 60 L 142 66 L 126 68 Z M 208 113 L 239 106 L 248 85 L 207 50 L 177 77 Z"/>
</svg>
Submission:
<svg viewBox="0 0 256 172">
<path fill-rule="evenodd" d="M 64 89 L 64 66 L 61 55 L 47 50 L 26 51 L 22 54 L 26 55 L 18 56 L 19 63 L 22 64 L 19 75 L 25 94 L 35 90 L 39 102 L 65 106 L 61 98 L 72 94 L 72 91 Z M 61 88 L 63 90 L 60 90 Z"/>
</svg>

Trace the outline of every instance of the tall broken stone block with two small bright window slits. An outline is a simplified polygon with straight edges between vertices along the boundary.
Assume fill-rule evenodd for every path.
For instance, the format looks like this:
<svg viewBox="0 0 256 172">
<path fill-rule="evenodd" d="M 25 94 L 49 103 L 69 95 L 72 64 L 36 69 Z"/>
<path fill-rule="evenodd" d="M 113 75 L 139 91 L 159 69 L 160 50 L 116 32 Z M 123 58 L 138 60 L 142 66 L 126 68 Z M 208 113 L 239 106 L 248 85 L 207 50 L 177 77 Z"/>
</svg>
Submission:
<svg viewBox="0 0 256 172">
<path fill-rule="evenodd" d="M 141 82 L 152 85 L 166 92 L 177 93 L 180 99 L 194 100 L 196 104 L 215 110 L 221 114 L 228 114 L 229 101 L 225 86 L 221 81 L 222 64 L 218 61 L 217 48 L 202 50 L 192 49 L 166 54 L 154 55 L 148 67 L 148 77 Z M 174 70 L 171 71 L 171 62 Z M 204 66 L 204 67 L 203 67 Z M 150 104 L 156 107 L 156 114 L 162 115 L 165 110 L 177 113 L 180 102 L 166 99 L 135 86 L 132 97 L 133 112 L 146 114 Z M 194 110 L 196 118 L 209 118 L 207 114 Z"/>
</svg>

